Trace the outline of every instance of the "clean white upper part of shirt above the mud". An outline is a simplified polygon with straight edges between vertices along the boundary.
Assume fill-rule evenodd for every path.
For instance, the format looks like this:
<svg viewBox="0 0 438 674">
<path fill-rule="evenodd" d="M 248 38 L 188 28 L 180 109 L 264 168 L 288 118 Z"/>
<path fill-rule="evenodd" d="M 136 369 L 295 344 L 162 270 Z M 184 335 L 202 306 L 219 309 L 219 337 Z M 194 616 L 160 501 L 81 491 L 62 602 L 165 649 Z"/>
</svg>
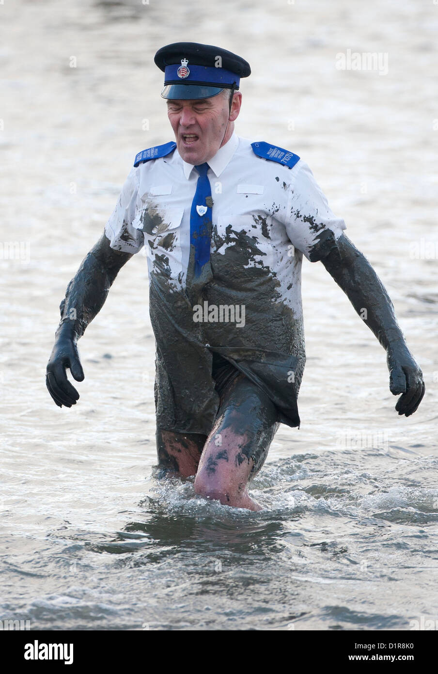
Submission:
<svg viewBox="0 0 438 674">
<path fill-rule="evenodd" d="M 301 262 L 325 229 L 338 239 L 346 228 L 336 218 L 309 166 L 300 158 L 293 168 L 257 157 L 251 140 L 230 140 L 208 161 L 208 178 L 214 207 L 212 222 L 219 237 L 226 227 L 245 228 L 257 237 L 257 249 L 251 266 L 268 266 L 280 281 L 282 301 L 302 313 Z M 125 253 L 137 253 L 146 245 L 149 274 L 156 255 L 168 257 L 175 289 L 185 287 L 190 251 L 190 210 L 199 174 L 183 161 L 178 150 L 132 168 L 105 226 L 111 247 Z M 148 208 L 160 215 L 157 231 L 142 231 L 142 214 Z M 268 231 L 270 239 L 263 234 Z M 163 247 L 172 233 L 171 247 Z M 212 236 L 211 251 L 224 252 L 227 243 L 216 248 Z"/>
</svg>

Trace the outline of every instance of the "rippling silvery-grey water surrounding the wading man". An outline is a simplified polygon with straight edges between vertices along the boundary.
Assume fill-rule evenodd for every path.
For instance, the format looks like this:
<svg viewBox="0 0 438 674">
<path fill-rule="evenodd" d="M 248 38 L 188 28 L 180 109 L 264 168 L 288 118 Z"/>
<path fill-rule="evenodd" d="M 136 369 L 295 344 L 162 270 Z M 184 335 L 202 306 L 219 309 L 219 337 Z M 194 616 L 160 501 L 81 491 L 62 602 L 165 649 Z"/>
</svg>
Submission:
<svg viewBox="0 0 438 674">
<path fill-rule="evenodd" d="M 408 630 L 438 619 L 437 7 L 0 9 L 1 241 L 21 246 L 0 260 L 0 619 L 51 630 Z M 302 425 L 280 427 L 253 483 L 258 513 L 199 499 L 191 480 L 150 478 L 142 253 L 80 342 L 79 404 L 57 408 L 44 385 L 67 282 L 135 154 L 172 138 L 152 58 L 183 39 L 251 63 L 237 132 L 309 163 L 425 373 L 425 400 L 398 417 L 383 349 L 323 266 L 305 261 Z M 347 49 L 387 53 L 387 74 L 338 71 Z"/>
</svg>

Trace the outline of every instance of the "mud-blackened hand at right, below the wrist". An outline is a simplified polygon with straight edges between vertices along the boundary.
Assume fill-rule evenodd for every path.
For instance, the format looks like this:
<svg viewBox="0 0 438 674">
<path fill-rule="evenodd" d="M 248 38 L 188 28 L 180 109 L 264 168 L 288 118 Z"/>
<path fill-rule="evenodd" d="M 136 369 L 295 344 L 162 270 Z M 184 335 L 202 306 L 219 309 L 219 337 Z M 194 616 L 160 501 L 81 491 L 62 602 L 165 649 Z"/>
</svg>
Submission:
<svg viewBox="0 0 438 674">
<path fill-rule="evenodd" d="M 389 390 L 394 396 L 403 394 L 397 401 L 396 411 L 399 415 L 410 417 L 425 395 L 423 372 L 403 342 L 389 346 L 386 362 L 389 369 Z"/>
</svg>

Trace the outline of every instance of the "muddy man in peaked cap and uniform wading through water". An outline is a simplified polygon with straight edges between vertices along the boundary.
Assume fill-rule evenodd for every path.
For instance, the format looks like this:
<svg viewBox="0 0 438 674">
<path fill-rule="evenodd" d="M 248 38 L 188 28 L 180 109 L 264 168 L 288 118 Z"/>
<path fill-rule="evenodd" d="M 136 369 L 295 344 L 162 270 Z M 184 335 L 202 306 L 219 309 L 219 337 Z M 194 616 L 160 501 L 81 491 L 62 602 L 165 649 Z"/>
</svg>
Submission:
<svg viewBox="0 0 438 674">
<path fill-rule="evenodd" d="M 392 303 L 343 234 L 309 166 L 238 137 L 249 64 L 224 49 L 160 49 L 169 142 L 140 152 L 104 235 L 61 302 L 46 382 L 59 406 L 79 398 L 77 339 L 117 273 L 143 245 L 156 337 L 158 477 L 196 476 L 195 492 L 259 510 L 248 491 L 278 425 L 299 427 L 305 365 L 301 262 L 321 260 L 387 351 L 399 415 L 425 392 Z"/>
</svg>

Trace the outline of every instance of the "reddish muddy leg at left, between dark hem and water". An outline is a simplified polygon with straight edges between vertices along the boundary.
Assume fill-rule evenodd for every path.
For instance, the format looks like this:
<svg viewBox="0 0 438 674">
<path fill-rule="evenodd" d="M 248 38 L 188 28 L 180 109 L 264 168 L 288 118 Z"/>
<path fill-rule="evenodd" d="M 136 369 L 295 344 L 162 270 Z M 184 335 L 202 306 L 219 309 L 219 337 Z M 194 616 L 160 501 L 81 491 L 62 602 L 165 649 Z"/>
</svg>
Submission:
<svg viewBox="0 0 438 674">
<path fill-rule="evenodd" d="M 198 433 L 175 433 L 156 429 L 158 464 L 154 477 L 189 477 L 195 475 L 207 436 Z"/>
</svg>

